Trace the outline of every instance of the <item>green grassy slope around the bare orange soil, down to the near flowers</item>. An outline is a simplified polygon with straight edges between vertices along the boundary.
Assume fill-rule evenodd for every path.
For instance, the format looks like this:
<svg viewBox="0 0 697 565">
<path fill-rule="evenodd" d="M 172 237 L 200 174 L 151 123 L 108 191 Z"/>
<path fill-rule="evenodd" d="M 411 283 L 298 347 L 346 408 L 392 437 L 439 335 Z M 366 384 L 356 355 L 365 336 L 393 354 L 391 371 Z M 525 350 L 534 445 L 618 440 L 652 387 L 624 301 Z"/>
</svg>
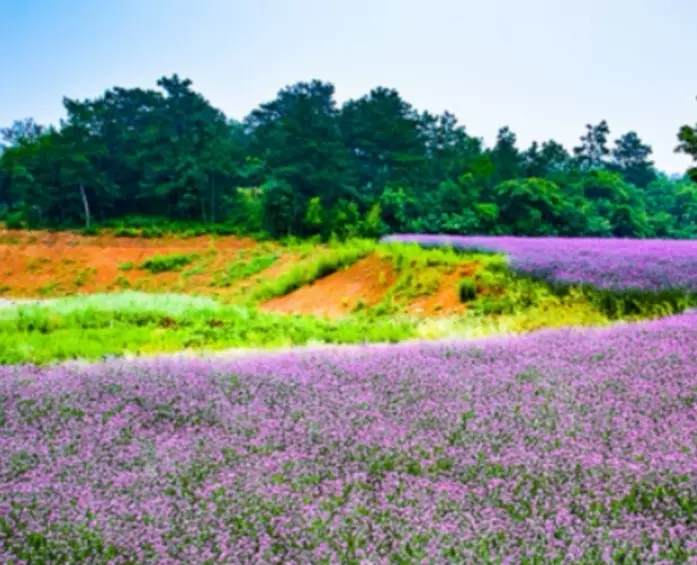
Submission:
<svg viewBox="0 0 697 565">
<path fill-rule="evenodd" d="M 376 252 L 391 262 L 397 282 L 376 306 L 335 321 L 311 316 L 259 312 L 259 303 L 310 284 Z M 295 261 L 280 275 L 264 270 L 283 256 Z M 205 264 L 192 258 L 159 258 L 165 271 L 192 276 Z M 461 281 L 467 311 L 449 317 L 416 317 L 408 312 L 416 298 L 433 294 L 442 277 L 464 264 L 476 265 Z M 169 273 L 171 274 L 171 273 Z M 249 282 L 235 290 L 240 280 Z M 232 289 L 225 304 L 213 298 L 181 294 L 95 294 L 63 298 L 44 305 L 0 312 L 0 363 L 45 363 L 104 355 L 148 354 L 182 349 L 284 347 L 308 343 L 362 343 L 413 338 L 473 337 L 523 332 L 563 325 L 602 325 L 616 319 L 640 319 L 678 312 L 690 301 L 681 294 L 611 295 L 592 289 L 553 288 L 510 272 L 503 257 L 463 254 L 413 245 L 376 245 L 353 241 L 317 247 L 292 244 L 243 250 L 216 273 L 213 287 Z"/>
</svg>

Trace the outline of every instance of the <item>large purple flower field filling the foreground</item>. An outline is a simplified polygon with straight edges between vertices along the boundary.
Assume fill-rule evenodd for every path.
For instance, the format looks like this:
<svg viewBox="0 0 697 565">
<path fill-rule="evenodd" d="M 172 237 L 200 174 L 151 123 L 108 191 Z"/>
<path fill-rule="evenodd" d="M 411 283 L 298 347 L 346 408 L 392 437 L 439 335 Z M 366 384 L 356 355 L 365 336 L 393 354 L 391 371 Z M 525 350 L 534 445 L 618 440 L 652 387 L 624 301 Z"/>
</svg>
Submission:
<svg viewBox="0 0 697 565">
<path fill-rule="evenodd" d="M 695 314 L 2 367 L 0 402 L 2 563 L 697 559 Z"/>
</svg>

